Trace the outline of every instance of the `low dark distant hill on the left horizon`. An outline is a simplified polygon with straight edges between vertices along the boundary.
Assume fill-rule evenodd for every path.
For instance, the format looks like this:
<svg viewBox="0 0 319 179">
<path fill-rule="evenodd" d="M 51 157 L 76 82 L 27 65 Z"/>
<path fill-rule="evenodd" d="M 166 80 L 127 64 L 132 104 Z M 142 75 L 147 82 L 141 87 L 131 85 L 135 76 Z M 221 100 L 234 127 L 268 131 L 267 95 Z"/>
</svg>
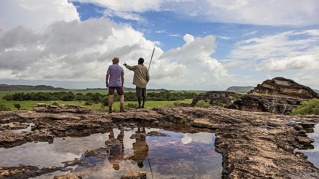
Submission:
<svg viewBox="0 0 319 179">
<path fill-rule="evenodd" d="M 47 85 L 7 85 L 7 84 L 0 84 L 0 91 L 4 90 L 65 90 L 64 88 L 55 88 L 53 86 Z"/>
</svg>

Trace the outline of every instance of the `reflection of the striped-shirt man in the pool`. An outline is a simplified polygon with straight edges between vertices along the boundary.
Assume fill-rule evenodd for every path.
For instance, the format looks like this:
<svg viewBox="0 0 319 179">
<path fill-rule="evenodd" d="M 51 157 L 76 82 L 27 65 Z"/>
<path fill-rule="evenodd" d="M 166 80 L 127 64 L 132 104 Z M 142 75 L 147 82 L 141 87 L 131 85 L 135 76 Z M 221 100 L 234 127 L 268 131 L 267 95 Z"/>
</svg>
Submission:
<svg viewBox="0 0 319 179">
<path fill-rule="evenodd" d="M 120 141 L 120 144 L 119 145 L 115 145 L 115 146 L 113 146 L 110 149 L 110 155 L 111 156 L 108 158 L 109 162 L 111 164 L 113 164 L 114 170 L 118 170 L 119 169 L 118 163 L 120 161 L 122 161 L 123 158 L 124 158 L 123 138 L 124 138 L 124 129 L 121 128 L 120 132 L 119 132 L 119 134 L 117 135 L 117 138 L 116 138 L 117 140 Z M 113 129 L 110 132 L 109 139 L 115 139 Z"/>
</svg>

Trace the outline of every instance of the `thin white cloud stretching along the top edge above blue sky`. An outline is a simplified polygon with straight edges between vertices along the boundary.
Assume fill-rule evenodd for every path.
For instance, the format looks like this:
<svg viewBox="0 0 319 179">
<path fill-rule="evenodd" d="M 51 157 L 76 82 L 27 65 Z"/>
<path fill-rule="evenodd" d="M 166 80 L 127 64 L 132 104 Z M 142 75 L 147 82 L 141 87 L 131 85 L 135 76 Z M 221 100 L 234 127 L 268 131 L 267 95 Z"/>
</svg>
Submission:
<svg viewBox="0 0 319 179">
<path fill-rule="evenodd" d="M 108 15 L 144 20 L 142 13 L 172 11 L 184 18 L 205 22 L 258 25 L 319 24 L 317 0 L 73 0 L 91 2 Z"/>
</svg>

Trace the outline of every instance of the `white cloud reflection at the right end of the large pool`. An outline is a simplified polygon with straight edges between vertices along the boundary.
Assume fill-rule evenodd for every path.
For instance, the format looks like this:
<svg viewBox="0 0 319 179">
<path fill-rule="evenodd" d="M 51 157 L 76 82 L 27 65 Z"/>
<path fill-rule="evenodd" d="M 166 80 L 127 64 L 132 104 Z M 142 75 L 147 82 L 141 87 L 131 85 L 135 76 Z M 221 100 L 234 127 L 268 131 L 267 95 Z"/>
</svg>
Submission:
<svg viewBox="0 0 319 179">
<path fill-rule="evenodd" d="M 204 144 L 211 144 L 213 142 L 213 139 L 215 140 L 215 135 L 213 133 L 186 133 L 184 134 L 184 137 L 181 139 L 182 144 L 189 144 L 192 141 L 193 142 L 200 142 Z"/>
</svg>

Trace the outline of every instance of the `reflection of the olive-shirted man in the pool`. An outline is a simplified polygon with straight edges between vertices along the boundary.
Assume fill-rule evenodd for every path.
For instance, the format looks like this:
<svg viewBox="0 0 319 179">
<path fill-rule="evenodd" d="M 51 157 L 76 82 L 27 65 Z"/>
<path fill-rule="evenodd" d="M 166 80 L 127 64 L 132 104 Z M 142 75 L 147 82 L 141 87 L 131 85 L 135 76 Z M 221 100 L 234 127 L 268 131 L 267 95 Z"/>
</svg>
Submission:
<svg viewBox="0 0 319 179">
<path fill-rule="evenodd" d="M 145 138 L 145 128 L 138 128 L 135 133 L 140 135 L 135 138 L 136 142 L 133 143 L 134 155 L 125 157 L 125 160 L 136 161 L 139 168 L 143 168 L 143 161 L 146 159 L 148 154 L 148 145 L 146 144 Z"/>
</svg>

